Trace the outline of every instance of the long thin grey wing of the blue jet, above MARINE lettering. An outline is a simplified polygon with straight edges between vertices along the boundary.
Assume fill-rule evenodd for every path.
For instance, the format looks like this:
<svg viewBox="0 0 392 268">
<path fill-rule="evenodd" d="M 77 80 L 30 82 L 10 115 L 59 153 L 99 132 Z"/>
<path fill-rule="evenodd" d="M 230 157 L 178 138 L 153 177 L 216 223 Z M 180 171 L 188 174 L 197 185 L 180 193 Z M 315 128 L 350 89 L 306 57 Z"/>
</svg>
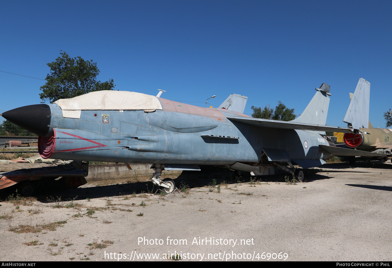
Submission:
<svg viewBox="0 0 392 268">
<path fill-rule="evenodd" d="M 264 128 L 302 129 L 302 130 L 313 130 L 313 131 L 352 133 L 351 129 L 349 128 L 306 124 L 306 123 L 292 122 L 292 121 L 279 121 L 279 120 L 260 119 L 260 118 L 253 118 L 253 117 L 240 117 L 240 116 L 227 116 L 226 118 L 232 121 L 237 121 L 237 122 L 254 125 L 254 126 L 260 126 Z"/>
</svg>

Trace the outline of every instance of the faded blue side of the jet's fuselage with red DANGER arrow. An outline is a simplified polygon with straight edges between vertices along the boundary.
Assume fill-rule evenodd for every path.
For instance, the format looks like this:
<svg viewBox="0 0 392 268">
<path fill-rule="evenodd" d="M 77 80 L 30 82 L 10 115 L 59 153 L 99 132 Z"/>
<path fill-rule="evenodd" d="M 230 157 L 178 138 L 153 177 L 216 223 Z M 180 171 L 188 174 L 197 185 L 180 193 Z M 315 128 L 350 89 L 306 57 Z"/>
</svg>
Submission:
<svg viewBox="0 0 392 268">
<path fill-rule="evenodd" d="M 56 133 L 56 147 L 51 156 L 55 159 L 151 164 L 256 164 L 260 161 L 262 148 L 285 150 L 294 161 L 327 159 L 329 156 L 329 153 L 319 153 L 319 144 L 328 145 L 328 142 L 309 131 L 261 128 L 163 110 L 81 111 L 80 119 L 74 119 L 64 118 L 57 104 L 49 106 L 53 113 L 51 126 Z M 104 117 L 107 121 L 103 120 Z"/>
</svg>

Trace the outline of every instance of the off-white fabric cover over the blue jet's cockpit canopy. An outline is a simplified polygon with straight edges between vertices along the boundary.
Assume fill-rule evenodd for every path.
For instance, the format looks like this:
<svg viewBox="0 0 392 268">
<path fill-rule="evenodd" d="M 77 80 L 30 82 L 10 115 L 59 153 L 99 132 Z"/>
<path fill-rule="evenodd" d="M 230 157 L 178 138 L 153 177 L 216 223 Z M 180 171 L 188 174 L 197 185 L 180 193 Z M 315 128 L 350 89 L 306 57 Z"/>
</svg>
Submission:
<svg viewBox="0 0 392 268">
<path fill-rule="evenodd" d="M 80 118 L 81 110 L 162 110 L 157 97 L 131 91 L 93 91 L 74 98 L 62 98 L 54 103 L 61 107 L 64 117 L 71 118 Z"/>
</svg>

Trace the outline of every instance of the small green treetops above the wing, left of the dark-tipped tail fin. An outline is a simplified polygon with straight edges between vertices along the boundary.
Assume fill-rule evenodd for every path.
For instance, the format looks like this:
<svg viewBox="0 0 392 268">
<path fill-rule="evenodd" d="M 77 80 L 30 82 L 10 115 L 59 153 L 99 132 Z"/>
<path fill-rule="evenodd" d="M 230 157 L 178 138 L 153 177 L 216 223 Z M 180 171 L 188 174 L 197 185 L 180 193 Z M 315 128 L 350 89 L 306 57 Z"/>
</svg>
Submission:
<svg viewBox="0 0 392 268">
<path fill-rule="evenodd" d="M 294 114 L 294 109 L 287 108 L 280 100 L 275 109 L 270 108 L 270 106 L 265 106 L 263 109 L 261 107 L 252 106 L 253 110 L 252 117 L 281 120 L 281 121 L 291 121 L 294 120 L 296 115 Z"/>
</svg>

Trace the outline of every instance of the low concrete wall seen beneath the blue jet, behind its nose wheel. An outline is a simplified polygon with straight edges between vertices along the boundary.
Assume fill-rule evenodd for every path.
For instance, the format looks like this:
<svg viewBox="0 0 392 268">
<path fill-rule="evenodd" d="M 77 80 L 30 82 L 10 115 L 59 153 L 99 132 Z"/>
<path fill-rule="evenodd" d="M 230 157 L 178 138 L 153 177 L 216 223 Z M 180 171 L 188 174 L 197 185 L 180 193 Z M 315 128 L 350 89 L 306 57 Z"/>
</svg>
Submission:
<svg viewBox="0 0 392 268">
<path fill-rule="evenodd" d="M 103 164 L 103 165 L 89 165 L 89 175 L 86 177 L 87 181 L 98 181 L 107 179 L 133 179 L 136 176 L 150 176 L 154 170 L 151 164 L 131 164 L 132 170 L 128 170 L 123 163 L 118 164 Z M 163 171 L 164 174 L 180 175 L 182 171 Z"/>
</svg>

